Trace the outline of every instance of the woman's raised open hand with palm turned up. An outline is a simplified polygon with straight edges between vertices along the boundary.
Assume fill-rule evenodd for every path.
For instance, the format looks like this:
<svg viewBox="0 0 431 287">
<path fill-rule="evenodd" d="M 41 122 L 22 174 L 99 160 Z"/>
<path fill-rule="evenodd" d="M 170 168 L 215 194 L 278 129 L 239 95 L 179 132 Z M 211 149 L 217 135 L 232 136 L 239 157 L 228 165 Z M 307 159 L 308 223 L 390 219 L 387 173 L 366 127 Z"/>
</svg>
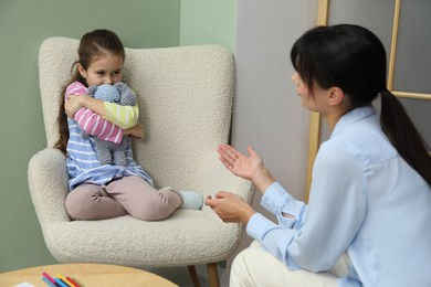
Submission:
<svg viewBox="0 0 431 287">
<path fill-rule="evenodd" d="M 229 145 L 220 145 L 217 151 L 224 167 L 233 174 L 253 181 L 262 193 L 275 181 L 263 164 L 261 157 L 251 147 L 246 149 L 248 156 Z"/>
</svg>

